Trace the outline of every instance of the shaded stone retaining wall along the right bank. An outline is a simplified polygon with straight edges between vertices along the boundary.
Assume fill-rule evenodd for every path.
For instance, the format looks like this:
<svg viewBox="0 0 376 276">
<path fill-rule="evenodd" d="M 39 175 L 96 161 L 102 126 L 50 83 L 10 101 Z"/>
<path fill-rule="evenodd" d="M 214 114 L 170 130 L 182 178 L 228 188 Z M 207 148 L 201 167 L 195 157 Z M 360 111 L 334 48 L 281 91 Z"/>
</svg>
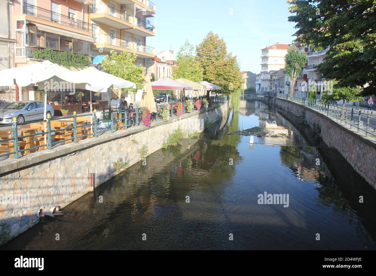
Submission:
<svg viewBox="0 0 376 276">
<path fill-rule="evenodd" d="M 337 151 L 376 190 L 376 144 L 308 107 L 280 98 L 268 98 L 287 112 L 300 116 L 329 147 Z"/>
</svg>

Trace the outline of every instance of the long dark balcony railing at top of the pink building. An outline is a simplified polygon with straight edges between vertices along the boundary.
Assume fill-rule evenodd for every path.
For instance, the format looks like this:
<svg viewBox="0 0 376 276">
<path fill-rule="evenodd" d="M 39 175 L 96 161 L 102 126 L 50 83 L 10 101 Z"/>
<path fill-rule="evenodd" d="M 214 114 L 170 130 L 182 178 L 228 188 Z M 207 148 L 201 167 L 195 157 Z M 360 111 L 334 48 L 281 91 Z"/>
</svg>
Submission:
<svg viewBox="0 0 376 276">
<path fill-rule="evenodd" d="M 24 3 L 24 14 L 31 15 L 34 17 L 42 18 L 52 22 L 60 23 L 65 26 L 73 27 L 80 30 L 91 31 L 91 24 L 77 20 L 75 18 L 70 18 L 66 15 L 59 14 L 47 9 L 39 8 L 37 6 Z"/>
</svg>

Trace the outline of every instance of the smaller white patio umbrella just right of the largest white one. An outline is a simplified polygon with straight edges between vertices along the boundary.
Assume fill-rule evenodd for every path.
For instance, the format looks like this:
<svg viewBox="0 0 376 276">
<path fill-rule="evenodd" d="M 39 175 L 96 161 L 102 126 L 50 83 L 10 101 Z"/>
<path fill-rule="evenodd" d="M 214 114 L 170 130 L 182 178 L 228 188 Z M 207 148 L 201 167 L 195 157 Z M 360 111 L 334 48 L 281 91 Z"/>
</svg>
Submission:
<svg viewBox="0 0 376 276">
<path fill-rule="evenodd" d="M 99 71 L 98 69 L 93 67 L 82 69 L 80 71 L 74 72 L 74 74 L 76 74 L 76 76 L 80 79 L 86 81 L 85 87 L 83 87 L 83 89 L 90 90 L 90 113 L 92 113 L 91 91 L 101 93 L 108 92 L 110 101 L 111 92 L 109 89 L 136 88 L 135 83 L 123 80 L 122 78 L 116 77 L 106 72 Z M 79 88 L 81 87 L 79 86 Z M 90 122 L 92 124 L 92 117 L 90 117 Z"/>
</svg>

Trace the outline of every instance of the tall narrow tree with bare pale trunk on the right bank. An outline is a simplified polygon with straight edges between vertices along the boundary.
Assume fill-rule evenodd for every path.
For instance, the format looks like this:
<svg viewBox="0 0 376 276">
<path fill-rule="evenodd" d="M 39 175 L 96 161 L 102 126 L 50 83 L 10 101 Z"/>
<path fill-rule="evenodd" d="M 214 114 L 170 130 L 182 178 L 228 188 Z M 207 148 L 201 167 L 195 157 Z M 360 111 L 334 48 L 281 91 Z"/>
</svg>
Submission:
<svg viewBox="0 0 376 276">
<path fill-rule="evenodd" d="M 297 47 L 290 46 L 287 48 L 285 55 L 285 74 L 288 75 L 290 80 L 290 96 L 294 95 L 294 84 L 303 69 L 303 66 L 307 63 L 307 55 L 305 52 L 301 52 Z"/>
</svg>

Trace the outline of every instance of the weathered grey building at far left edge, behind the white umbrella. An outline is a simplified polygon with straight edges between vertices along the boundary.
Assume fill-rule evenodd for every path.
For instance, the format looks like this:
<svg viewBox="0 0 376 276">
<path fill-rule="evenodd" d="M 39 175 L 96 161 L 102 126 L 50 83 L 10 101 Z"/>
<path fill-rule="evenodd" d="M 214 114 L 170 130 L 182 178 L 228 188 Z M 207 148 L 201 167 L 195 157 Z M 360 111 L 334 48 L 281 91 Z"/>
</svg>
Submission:
<svg viewBox="0 0 376 276">
<path fill-rule="evenodd" d="M 0 70 L 14 67 L 14 21 L 12 1 L 0 1 Z M 0 86 L 0 108 L 15 101 L 15 90 L 9 86 Z"/>
</svg>

